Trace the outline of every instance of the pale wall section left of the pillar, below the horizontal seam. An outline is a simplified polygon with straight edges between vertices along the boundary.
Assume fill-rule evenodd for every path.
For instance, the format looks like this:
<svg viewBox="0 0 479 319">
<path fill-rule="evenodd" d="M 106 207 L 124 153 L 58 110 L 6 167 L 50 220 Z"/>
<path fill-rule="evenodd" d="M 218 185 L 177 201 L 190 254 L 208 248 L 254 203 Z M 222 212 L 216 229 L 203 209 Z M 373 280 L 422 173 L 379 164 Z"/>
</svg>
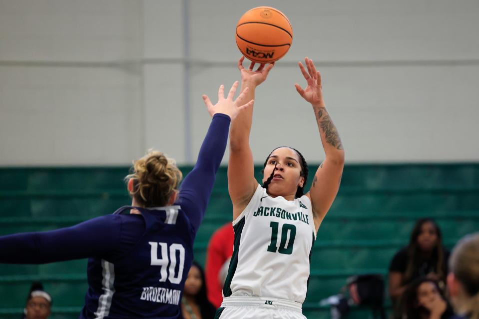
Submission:
<svg viewBox="0 0 479 319">
<path fill-rule="evenodd" d="M 1 164 L 130 161 L 138 91 L 137 76 L 113 68 L 0 66 Z"/>
</svg>

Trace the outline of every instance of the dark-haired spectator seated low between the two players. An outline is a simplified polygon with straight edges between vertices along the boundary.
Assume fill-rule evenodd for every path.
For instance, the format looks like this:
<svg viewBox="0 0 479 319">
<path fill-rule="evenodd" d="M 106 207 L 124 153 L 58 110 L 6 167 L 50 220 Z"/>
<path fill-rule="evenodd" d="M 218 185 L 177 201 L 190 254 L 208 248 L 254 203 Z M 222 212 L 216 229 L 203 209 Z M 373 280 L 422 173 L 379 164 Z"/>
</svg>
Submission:
<svg viewBox="0 0 479 319">
<path fill-rule="evenodd" d="M 201 266 L 193 261 L 183 290 L 181 312 L 183 319 L 213 319 L 216 308 L 206 295 L 205 275 Z"/>
</svg>

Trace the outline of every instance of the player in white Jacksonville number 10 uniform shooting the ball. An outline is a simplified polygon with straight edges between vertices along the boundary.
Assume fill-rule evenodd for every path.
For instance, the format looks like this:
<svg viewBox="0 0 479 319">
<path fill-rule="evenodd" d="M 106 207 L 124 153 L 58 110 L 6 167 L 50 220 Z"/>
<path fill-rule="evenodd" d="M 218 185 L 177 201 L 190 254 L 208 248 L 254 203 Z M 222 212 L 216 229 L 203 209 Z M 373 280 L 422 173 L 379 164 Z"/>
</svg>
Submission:
<svg viewBox="0 0 479 319">
<path fill-rule="evenodd" d="M 273 64 L 253 71 L 254 63 L 246 69 L 243 59 L 238 68 L 242 89 L 249 88 L 244 98 L 250 100 Z M 228 188 L 235 239 L 217 318 L 305 318 L 302 303 L 313 243 L 338 192 L 344 165 L 341 139 L 323 101 L 320 73 L 311 59 L 305 58 L 305 63 L 307 70 L 301 62 L 299 67 L 308 86 L 295 86 L 313 106 L 326 158 L 304 194 L 308 178 L 304 157 L 292 147 L 275 148 L 266 158 L 260 185 L 249 145 L 253 110 L 232 122 Z"/>
</svg>

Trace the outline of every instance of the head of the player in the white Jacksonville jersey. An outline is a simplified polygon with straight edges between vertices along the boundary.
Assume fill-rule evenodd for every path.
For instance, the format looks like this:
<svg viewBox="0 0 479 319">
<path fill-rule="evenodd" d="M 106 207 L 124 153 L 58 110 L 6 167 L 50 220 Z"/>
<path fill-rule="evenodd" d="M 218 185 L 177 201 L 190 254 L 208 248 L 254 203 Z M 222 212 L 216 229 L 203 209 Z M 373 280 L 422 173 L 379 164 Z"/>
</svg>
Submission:
<svg viewBox="0 0 479 319">
<path fill-rule="evenodd" d="M 300 161 L 298 153 L 289 147 L 280 147 L 271 153 L 263 174 L 263 182 L 265 182 L 275 170 L 274 177 L 268 186 L 270 195 L 284 196 L 296 193 L 298 186 L 304 183 Z"/>
</svg>

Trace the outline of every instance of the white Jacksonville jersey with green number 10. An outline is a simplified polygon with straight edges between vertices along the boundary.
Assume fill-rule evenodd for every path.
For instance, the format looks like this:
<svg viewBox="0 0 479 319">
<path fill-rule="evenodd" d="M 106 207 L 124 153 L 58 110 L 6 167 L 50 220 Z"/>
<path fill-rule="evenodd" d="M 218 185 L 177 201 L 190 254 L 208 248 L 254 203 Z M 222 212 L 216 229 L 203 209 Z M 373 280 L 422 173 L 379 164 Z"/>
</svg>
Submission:
<svg viewBox="0 0 479 319">
<path fill-rule="evenodd" d="M 233 256 L 223 295 L 303 303 L 316 239 L 309 198 L 273 198 L 258 184 L 233 228 Z"/>
</svg>

